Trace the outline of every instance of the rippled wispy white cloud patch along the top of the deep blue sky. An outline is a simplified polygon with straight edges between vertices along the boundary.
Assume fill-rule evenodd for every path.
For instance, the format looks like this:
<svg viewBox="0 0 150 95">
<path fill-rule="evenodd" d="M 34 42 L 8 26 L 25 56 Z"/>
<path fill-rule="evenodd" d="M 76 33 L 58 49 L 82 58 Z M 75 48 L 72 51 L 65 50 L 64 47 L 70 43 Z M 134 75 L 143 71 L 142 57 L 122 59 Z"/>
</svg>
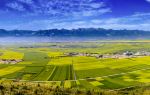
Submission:
<svg viewBox="0 0 150 95">
<path fill-rule="evenodd" d="M 94 3 L 95 0 L 15 0 L 8 3 L 7 7 L 17 11 L 24 11 L 22 16 L 49 16 L 84 18 L 99 16 L 111 12 L 105 2 Z M 28 6 L 26 7 L 24 4 Z M 9 10 L 8 8 L 8 10 Z"/>
</svg>

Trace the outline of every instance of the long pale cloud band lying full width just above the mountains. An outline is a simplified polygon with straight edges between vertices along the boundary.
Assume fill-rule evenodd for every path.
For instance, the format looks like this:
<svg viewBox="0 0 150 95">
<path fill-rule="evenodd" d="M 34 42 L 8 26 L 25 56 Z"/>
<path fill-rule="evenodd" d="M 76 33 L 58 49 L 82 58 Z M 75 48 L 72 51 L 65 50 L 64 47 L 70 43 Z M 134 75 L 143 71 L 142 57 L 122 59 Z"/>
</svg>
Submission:
<svg viewBox="0 0 150 95">
<path fill-rule="evenodd" d="M 7 29 L 77 29 L 77 28 L 106 28 L 106 29 L 128 29 L 128 30 L 146 30 L 150 31 L 150 15 L 149 13 L 136 13 L 131 16 L 107 18 L 107 19 L 61 19 L 54 18 L 49 20 L 35 20 L 27 23 L 4 26 L 2 23 L 0 28 Z"/>
</svg>

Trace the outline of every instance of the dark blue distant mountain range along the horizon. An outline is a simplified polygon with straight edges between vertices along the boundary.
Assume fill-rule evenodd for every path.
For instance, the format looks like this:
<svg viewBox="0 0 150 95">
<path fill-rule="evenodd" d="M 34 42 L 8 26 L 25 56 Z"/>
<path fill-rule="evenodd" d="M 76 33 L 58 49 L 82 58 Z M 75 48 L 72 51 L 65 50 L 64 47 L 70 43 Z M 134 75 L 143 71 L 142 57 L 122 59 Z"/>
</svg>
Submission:
<svg viewBox="0 0 150 95">
<path fill-rule="evenodd" d="M 0 36 L 77 36 L 77 37 L 143 37 L 150 36 L 149 31 L 142 30 L 112 30 L 102 28 L 79 28 L 79 29 L 50 29 L 50 30 L 4 30 L 0 29 Z"/>
</svg>

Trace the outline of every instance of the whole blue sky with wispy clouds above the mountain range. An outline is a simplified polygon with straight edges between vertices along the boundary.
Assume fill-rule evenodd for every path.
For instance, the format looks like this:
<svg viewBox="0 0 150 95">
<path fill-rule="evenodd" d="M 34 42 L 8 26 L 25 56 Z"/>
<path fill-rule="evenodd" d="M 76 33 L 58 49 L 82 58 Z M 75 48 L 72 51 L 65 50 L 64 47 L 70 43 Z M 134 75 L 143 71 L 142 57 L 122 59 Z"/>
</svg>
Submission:
<svg viewBox="0 0 150 95">
<path fill-rule="evenodd" d="M 0 0 L 0 29 L 150 31 L 150 0 Z"/>
</svg>

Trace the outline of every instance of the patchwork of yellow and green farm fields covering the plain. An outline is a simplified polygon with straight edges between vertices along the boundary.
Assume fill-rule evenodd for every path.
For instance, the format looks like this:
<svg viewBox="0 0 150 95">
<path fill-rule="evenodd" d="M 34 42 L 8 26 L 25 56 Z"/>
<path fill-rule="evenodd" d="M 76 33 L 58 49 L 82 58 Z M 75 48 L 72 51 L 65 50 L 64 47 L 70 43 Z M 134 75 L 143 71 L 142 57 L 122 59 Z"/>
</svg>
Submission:
<svg viewBox="0 0 150 95">
<path fill-rule="evenodd" d="M 142 43 L 143 44 L 143 43 Z M 97 43 L 96 43 L 97 45 Z M 113 45 L 113 46 L 112 46 Z M 141 44 L 140 44 L 141 45 Z M 99 45 L 98 53 L 149 49 L 137 43 Z M 64 45 L 65 46 L 65 45 Z M 123 46 L 128 46 L 127 48 Z M 133 46 L 133 47 L 129 47 Z M 103 50 L 103 48 L 107 50 Z M 76 48 L 76 52 L 93 48 Z M 98 50 L 99 49 L 99 50 Z M 22 59 L 17 64 L 0 63 L 0 79 L 47 82 L 65 88 L 120 89 L 150 82 L 150 56 L 124 59 L 97 59 L 87 56 L 66 56 L 70 48 L 8 48 L 1 49 L 0 59 Z M 114 52 L 113 51 L 113 52 Z"/>
</svg>

